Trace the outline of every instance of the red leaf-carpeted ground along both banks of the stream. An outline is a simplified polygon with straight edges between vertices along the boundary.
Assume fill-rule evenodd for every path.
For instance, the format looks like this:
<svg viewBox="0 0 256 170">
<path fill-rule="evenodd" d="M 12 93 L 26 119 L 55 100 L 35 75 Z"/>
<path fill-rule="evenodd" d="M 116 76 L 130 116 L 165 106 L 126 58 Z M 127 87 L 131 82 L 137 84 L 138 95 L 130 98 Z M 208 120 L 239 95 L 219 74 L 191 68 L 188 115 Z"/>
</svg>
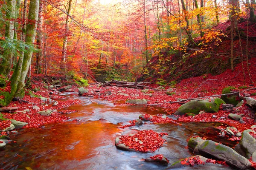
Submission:
<svg viewBox="0 0 256 170">
<path fill-rule="evenodd" d="M 162 107 L 166 111 L 167 115 L 172 115 L 181 104 L 179 103 L 169 103 L 171 101 L 177 101 L 177 99 L 189 99 L 196 97 L 204 97 L 208 99 L 207 96 L 212 96 L 216 94 L 221 94 L 223 88 L 227 86 L 233 86 L 241 91 L 241 94 L 250 94 L 251 97 L 256 95 L 256 90 L 247 90 L 254 88 L 256 82 L 256 59 L 250 59 L 250 74 L 253 82 L 250 82 L 247 72 L 245 73 L 246 79 L 244 79 L 241 63 L 237 65 L 234 71 L 228 69 L 222 74 L 212 76 L 207 74 L 201 77 L 192 77 L 189 79 L 183 79 L 181 82 L 177 83 L 175 87 L 165 87 L 165 89 L 155 89 L 158 85 L 149 85 L 149 91 L 143 92 L 141 89 L 134 88 L 118 88 L 115 86 L 100 87 L 98 84 L 90 85 L 87 87 L 88 93 L 84 96 L 93 96 L 97 99 L 106 99 L 113 102 L 115 105 L 130 105 L 125 103 L 128 99 L 146 99 L 148 101 L 148 106 L 156 105 Z M 244 63 L 245 65 L 245 63 Z M 34 92 L 35 95 L 43 96 L 46 98 L 51 98 L 52 100 L 58 100 L 58 104 L 53 106 L 52 104 L 47 104 L 43 102 L 40 98 L 30 96 L 26 94 L 22 99 L 23 102 L 13 101 L 9 107 L 18 107 L 16 114 L 13 113 L 3 113 L 6 119 L 15 119 L 21 122 L 27 122 L 28 125 L 25 127 L 38 127 L 41 128 L 43 125 L 51 122 L 63 122 L 69 119 L 62 113 L 69 113 L 73 111 L 64 111 L 63 108 L 67 108 L 70 105 L 79 103 L 78 100 L 66 99 L 65 96 L 61 96 L 58 91 L 53 90 L 52 94 L 49 94 L 49 90 L 44 88 L 42 79 L 37 77 L 33 80 L 32 88 L 38 88 L 40 91 Z M 43 77 L 43 75 L 42 75 Z M 33 78 L 32 78 L 33 79 Z M 166 90 L 172 88 L 173 94 L 167 95 Z M 6 91 L 8 91 L 8 86 Z M 75 85 L 72 86 L 69 92 L 73 91 L 73 95 L 78 95 L 79 88 Z M 111 93 L 110 95 L 108 93 Z M 61 99 L 61 100 L 59 100 Z M 179 119 L 175 122 L 222 122 L 225 125 L 236 127 L 240 132 L 245 129 L 250 129 L 252 125 L 255 124 L 255 110 L 251 109 L 249 106 L 244 104 L 237 110 L 223 111 L 220 109 L 218 113 L 204 113 L 196 116 L 179 116 Z M 38 108 L 33 108 L 33 106 L 38 106 Z M 26 109 L 28 109 L 26 111 Z M 44 110 L 57 110 L 57 112 L 52 113 L 50 116 L 41 116 L 38 111 Z M 236 120 L 231 120 L 228 118 L 229 113 L 244 114 L 244 123 L 240 123 Z M 213 116 L 215 118 L 212 118 Z M 158 122 L 161 122 L 159 119 Z M 0 121 L 0 129 L 4 129 L 9 126 L 10 121 Z M 223 124 L 223 127 L 225 128 Z M 6 134 L 6 132 L 1 132 L 1 135 Z M 240 137 L 241 138 L 241 137 Z M 240 138 L 230 138 L 230 140 L 239 141 Z"/>
</svg>

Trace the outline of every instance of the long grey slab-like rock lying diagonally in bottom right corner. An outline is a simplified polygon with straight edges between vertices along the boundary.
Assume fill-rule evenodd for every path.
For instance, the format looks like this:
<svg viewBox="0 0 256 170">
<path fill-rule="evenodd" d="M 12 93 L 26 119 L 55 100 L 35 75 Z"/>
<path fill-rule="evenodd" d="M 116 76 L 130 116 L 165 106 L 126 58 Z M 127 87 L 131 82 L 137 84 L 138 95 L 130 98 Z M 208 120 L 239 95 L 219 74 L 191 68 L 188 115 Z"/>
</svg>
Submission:
<svg viewBox="0 0 256 170">
<path fill-rule="evenodd" d="M 244 156 L 239 155 L 235 150 L 223 144 L 206 140 L 200 147 L 198 147 L 198 150 L 202 156 L 209 156 L 218 160 L 226 161 L 230 166 L 241 170 L 246 170 L 251 167 L 250 162 L 244 158 Z"/>
</svg>

